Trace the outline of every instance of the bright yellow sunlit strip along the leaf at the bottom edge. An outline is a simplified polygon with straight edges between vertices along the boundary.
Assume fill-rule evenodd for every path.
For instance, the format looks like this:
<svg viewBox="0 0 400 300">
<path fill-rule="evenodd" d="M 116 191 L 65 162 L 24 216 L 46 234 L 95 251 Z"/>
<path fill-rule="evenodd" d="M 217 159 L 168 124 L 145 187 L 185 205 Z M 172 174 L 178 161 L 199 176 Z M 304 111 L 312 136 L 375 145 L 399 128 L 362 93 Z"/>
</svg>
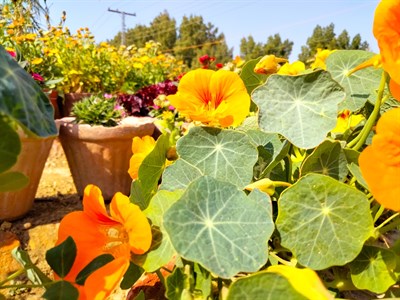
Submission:
<svg viewBox="0 0 400 300">
<path fill-rule="evenodd" d="M 310 300 L 334 299 L 322 284 L 317 273 L 311 269 L 298 269 L 290 266 L 271 266 L 267 272 L 277 273 L 285 277 L 296 291 Z"/>
</svg>

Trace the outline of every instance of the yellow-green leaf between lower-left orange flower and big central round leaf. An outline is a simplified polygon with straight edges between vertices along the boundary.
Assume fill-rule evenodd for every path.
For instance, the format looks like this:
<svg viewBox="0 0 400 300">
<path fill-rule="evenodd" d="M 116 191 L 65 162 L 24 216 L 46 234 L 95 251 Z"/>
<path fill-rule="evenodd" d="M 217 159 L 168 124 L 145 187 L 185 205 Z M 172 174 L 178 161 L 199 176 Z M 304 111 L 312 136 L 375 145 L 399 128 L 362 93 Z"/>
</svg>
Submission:
<svg viewBox="0 0 400 300">
<path fill-rule="evenodd" d="M 132 259 L 146 272 L 154 272 L 166 265 L 175 254 L 168 235 L 164 229 L 164 213 L 182 196 L 183 191 L 174 192 L 160 190 L 153 197 L 150 205 L 144 211 L 147 218 L 151 220 L 153 228 L 153 243 L 150 250 L 144 255 L 133 255 Z"/>
</svg>

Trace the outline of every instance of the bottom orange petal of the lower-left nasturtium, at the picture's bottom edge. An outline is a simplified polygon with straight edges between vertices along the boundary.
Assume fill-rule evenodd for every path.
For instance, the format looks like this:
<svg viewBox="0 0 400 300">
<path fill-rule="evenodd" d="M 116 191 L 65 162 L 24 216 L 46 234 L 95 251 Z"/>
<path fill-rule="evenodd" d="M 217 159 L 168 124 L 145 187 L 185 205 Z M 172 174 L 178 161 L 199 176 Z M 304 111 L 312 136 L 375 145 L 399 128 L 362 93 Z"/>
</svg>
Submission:
<svg viewBox="0 0 400 300">
<path fill-rule="evenodd" d="M 84 293 L 87 299 L 107 299 L 118 287 L 125 272 L 128 270 L 129 260 L 117 258 L 94 271 L 85 281 Z"/>
</svg>

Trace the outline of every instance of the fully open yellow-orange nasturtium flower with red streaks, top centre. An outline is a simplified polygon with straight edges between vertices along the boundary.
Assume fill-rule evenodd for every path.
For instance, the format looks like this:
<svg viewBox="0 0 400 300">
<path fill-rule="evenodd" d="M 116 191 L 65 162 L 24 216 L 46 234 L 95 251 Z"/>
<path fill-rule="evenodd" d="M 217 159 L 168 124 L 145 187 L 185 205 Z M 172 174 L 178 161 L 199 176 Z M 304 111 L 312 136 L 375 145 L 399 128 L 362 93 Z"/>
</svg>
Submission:
<svg viewBox="0 0 400 300">
<path fill-rule="evenodd" d="M 180 113 L 210 126 L 238 126 L 250 110 L 250 96 L 238 74 L 197 69 L 186 73 L 178 92 L 167 96 Z"/>
</svg>

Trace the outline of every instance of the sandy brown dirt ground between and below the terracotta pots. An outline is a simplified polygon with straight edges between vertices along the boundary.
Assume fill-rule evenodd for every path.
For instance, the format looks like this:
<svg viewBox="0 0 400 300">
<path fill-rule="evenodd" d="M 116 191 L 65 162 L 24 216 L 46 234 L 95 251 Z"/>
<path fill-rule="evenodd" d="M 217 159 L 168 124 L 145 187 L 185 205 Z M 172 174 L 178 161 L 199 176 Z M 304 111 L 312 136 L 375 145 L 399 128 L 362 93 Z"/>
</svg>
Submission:
<svg viewBox="0 0 400 300">
<path fill-rule="evenodd" d="M 45 262 L 45 252 L 54 246 L 58 224 L 62 217 L 81 209 L 81 199 L 76 193 L 61 144 L 56 139 L 43 170 L 32 209 L 19 220 L 0 222 L 0 230 L 14 233 L 22 248 L 28 251 L 33 263 L 46 275 L 51 276 Z M 30 284 L 24 277 L 19 279 L 19 283 Z M 41 299 L 43 292 L 43 289 L 38 288 L 0 290 L 7 299 L 16 300 Z M 118 291 L 112 299 L 125 299 L 125 297 L 125 291 Z"/>
</svg>

